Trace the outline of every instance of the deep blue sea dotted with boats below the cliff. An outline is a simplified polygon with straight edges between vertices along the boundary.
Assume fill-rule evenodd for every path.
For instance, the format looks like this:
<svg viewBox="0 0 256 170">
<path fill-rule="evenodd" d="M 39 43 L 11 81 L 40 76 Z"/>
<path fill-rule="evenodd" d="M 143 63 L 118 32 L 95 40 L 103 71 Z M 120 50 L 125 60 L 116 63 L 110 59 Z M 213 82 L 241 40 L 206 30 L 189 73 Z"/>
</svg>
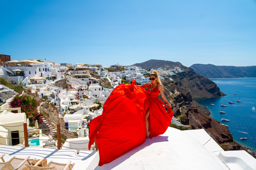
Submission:
<svg viewBox="0 0 256 170">
<path fill-rule="evenodd" d="M 211 117 L 228 125 L 233 140 L 256 151 L 256 78 L 211 79 L 227 96 L 197 99 L 198 104 L 211 112 Z M 242 102 L 237 102 L 241 100 Z M 234 104 L 229 104 L 233 101 Z M 214 104 L 212 106 L 211 104 Z M 227 105 L 221 107 L 220 105 Z M 224 111 L 225 114 L 221 114 Z M 226 118 L 229 122 L 221 122 Z M 240 140 L 247 138 L 247 140 Z"/>
</svg>

